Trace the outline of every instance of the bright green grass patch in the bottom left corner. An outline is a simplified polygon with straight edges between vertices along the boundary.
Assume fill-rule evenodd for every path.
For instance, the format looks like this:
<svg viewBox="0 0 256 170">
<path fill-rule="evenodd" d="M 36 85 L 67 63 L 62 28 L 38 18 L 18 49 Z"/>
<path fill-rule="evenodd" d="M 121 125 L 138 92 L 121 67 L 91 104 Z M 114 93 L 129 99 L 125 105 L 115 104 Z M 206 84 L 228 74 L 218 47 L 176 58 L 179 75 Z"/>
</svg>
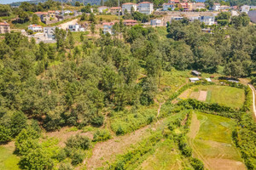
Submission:
<svg viewBox="0 0 256 170">
<path fill-rule="evenodd" d="M 18 170 L 19 157 L 13 155 L 14 146 L 0 146 L 0 169 Z"/>
</svg>

